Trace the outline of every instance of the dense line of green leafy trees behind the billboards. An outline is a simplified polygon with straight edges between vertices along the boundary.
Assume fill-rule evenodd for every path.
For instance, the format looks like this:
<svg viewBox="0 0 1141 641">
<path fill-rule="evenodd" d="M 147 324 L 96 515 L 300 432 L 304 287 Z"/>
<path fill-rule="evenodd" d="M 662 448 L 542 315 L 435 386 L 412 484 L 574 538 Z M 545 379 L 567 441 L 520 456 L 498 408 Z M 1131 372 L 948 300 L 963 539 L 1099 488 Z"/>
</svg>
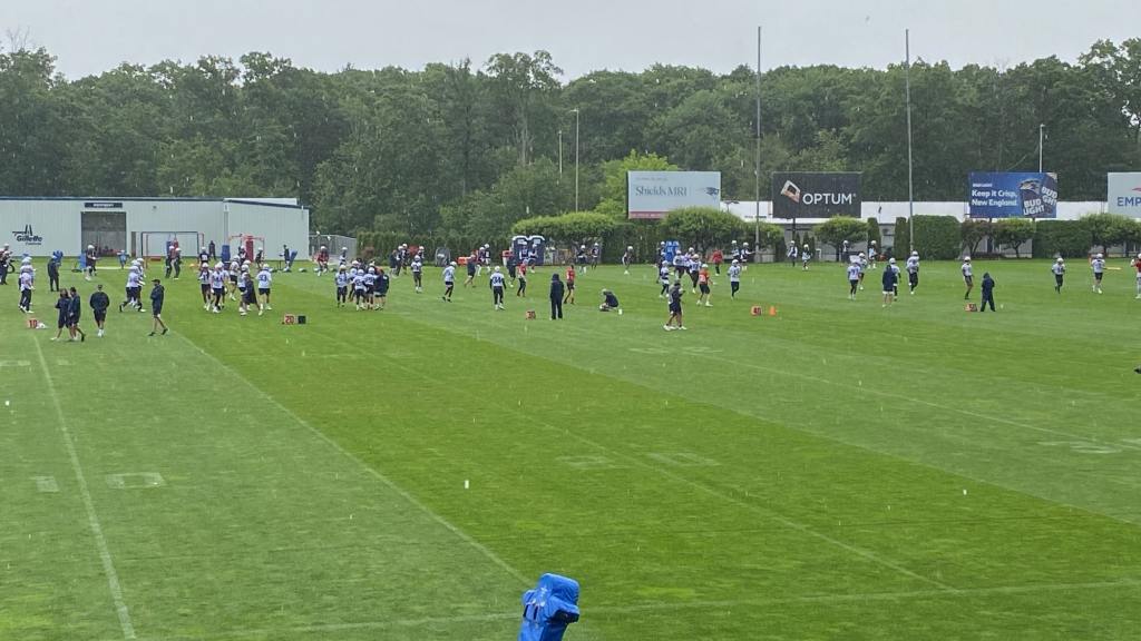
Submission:
<svg viewBox="0 0 1141 641">
<path fill-rule="evenodd" d="M 293 196 L 322 233 L 469 236 L 576 202 L 621 218 L 631 168 L 719 170 L 725 200 L 753 198 L 750 67 L 563 76 L 545 51 L 335 73 L 250 52 L 68 80 L 49 51 L 9 47 L 0 194 Z M 964 200 L 973 170 L 1037 169 L 1039 124 L 1063 200 L 1103 200 L 1106 172 L 1141 167 L 1141 39 L 1076 63 L 921 60 L 911 80 L 917 201 Z M 903 65 L 760 84 L 762 198 L 771 171 L 861 171 L 865 200 L 906 200 Z"/>
</svg>

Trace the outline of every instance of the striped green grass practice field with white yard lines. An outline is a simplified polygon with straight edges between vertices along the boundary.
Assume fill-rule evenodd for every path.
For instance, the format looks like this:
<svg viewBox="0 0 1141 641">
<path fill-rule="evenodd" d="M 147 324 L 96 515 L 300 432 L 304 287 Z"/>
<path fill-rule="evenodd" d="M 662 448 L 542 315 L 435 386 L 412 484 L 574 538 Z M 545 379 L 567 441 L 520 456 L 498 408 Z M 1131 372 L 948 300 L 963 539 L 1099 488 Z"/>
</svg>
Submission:
<svg viewBox="0 0 1141 641">
<path fill-rule="evenodd" d="M 687 289 L 686 332 L 648 266 L 581 275 L 561 323 L 550 268 L 505 311 L 486 276 L 357 313 L 280 274 L 261 318 L 184 270 L 169 335 L 112 309 L 103 339 L 66 274 L 68 344 L 41 262 L 50 330 L 0 287 L 0 639 L 513 639 L 544 571 L 582 584 L 568 641 L 1138 639 L 1141 301 L 1110 265 L 1058 295 L 980 261 L 997 314 L 957 263 L 890 309 L 880 271 L 852 302 L 836 263 L 754 266 Z"/>
</svg>

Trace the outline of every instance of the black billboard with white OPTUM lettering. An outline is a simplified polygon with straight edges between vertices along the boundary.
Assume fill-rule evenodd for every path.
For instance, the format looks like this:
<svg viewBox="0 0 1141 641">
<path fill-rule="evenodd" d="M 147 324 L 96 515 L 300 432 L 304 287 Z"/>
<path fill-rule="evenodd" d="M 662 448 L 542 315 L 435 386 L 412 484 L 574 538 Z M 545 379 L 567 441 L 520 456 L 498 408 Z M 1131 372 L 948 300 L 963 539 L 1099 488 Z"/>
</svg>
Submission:
<svg viewBox="0 0 1141 641">
<path fill-rule="evenodd" d="M 775 218 L 859 218 L 860 195 L 857 172 L 774 172 Z"/>
</svg>

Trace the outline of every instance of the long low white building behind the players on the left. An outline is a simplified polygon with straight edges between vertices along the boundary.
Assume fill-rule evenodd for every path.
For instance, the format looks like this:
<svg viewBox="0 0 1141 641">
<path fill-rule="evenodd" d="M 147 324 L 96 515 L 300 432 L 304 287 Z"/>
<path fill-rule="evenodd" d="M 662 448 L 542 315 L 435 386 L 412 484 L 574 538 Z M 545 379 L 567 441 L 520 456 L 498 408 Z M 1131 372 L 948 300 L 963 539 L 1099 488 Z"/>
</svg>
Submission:
<svg viewBox="0 0 1141 641">
<path fill-rule="evenodd" d="M 217 253 L 243 235 L 267 257 L 283 245 L 304 257 L 309 210 L 296 198 L 0 197 L 0 244 L 16 255 L 65 257 L 95 245 L 104 255 L 161 257 L 178 241 L 184 255 L 216 244 Z"/>
</svg>

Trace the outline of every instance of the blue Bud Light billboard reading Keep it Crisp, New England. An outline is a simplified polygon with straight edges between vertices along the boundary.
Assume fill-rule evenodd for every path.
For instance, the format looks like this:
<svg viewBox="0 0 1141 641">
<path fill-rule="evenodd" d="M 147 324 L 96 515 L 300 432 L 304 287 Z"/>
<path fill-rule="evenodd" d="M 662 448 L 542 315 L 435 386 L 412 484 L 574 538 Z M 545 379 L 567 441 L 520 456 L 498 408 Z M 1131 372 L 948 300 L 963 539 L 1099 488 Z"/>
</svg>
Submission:
<svg viewBox="0 0 1141 641">
<path fill-rule="evenodd" d="M 1057 218 L 1058 175 L 972 172 L 971 218 Z"/>
</svg>

